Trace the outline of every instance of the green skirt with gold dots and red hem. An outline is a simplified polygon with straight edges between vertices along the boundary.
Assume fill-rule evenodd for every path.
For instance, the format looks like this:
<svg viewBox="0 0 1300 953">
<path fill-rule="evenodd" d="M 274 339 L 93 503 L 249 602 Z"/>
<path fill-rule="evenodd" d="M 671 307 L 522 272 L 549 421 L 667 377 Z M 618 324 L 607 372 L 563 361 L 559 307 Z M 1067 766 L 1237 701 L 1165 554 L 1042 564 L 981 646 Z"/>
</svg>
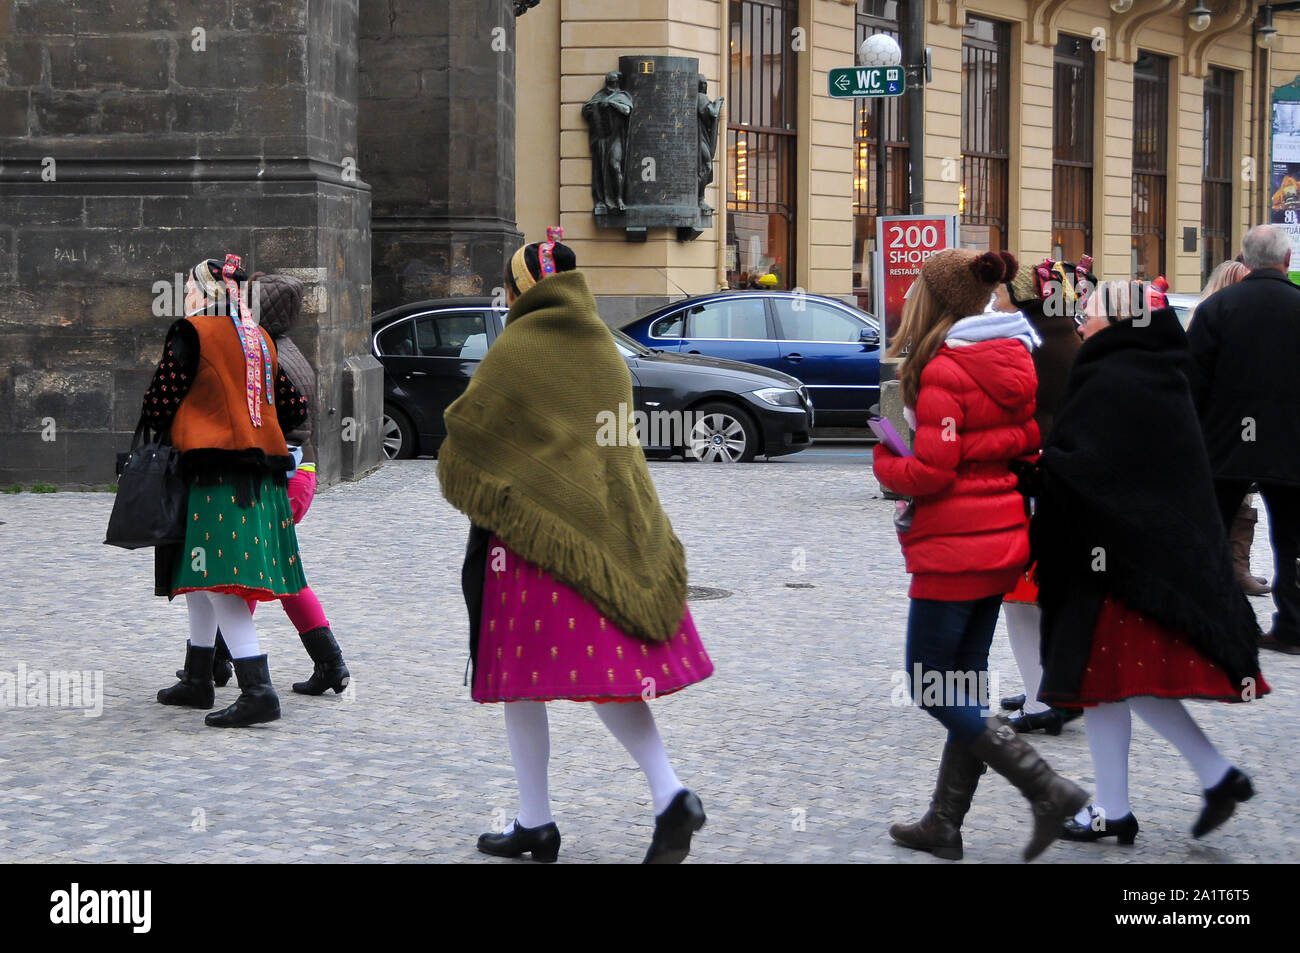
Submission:
<svg viewBox="0 0 1300 953">
<path fill-rule="evenodd" d="M 250 506 L 239 506 L 228 480 L 190 486 L 185 546 L 172 593 L 231 593 L 261 602 L 294 595 L 307 585 L 289 493 L 264 477 Z"/>
</svg>

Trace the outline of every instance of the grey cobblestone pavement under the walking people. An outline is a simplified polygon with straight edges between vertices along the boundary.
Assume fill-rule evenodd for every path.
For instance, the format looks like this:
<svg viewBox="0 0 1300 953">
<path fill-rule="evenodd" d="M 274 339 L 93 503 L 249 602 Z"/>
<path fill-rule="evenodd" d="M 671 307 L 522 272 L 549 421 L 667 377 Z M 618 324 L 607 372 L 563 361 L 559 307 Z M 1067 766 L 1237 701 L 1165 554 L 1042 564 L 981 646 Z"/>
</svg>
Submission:
<svg viewBox="0 0 1300 953">
<path fill-rule="evenodd" d="M 692 582 L 729 597 L 693 612 L 718 667 L 655 702 L 682 780 L 708 826 L 693 859 L 941 863 L 890 845 L 926 805 L 941 732 L 892 702 L 907 576 L 866 459 L 720 468 L 653 464 L 686 545 Z M 183 606 L 151 595 L 152 554 L 101 545 L 107 494 L 0 497 L 0 677 L 20 666 L 100 670 L 98 718 L 0 709 L 0 857 L 8 861 L 482 861 L 474 837 L 512 816 L 498 706 L 462 686 L 465 520 L 434 463 L 386 465 L 320 494 L 302 524 L 309 581 L 354 686 L 289 690 L 309 663 L 283 614 L 257 614 L 283 719 L 242 731 L 153 701 L 182 658 Z M 1261 521 L 1254 564 L 1268 563 Z M 1254 599 L 1261 619 L 1271 603 Z M 1002 693 L 1019 689 L 1005 632 Z M 1195 775 L 1135 720 L 1134 849 L 1057 845 L 1045 863 L 1300 859 L 1300 658 L 1266 653 L 1274 693 L 1196 705 L 1257 797 L 1204 842 Z M 234 683 L 218 702 L 234 697 Z M 224 701 L 222 701 L 224 699 Z M 551 787 L 562 861 L 638 861 L 653 816 L 641 774 L 589 706 L 551 705 Z M 1082 723 L 1036 741 L 1084 784 Z M 1013 862 L 1024 801 L 992 774 L 967 823 L 967 862 Z M 500 862 L 500 861 L 490 861 Z"/>
</svg>

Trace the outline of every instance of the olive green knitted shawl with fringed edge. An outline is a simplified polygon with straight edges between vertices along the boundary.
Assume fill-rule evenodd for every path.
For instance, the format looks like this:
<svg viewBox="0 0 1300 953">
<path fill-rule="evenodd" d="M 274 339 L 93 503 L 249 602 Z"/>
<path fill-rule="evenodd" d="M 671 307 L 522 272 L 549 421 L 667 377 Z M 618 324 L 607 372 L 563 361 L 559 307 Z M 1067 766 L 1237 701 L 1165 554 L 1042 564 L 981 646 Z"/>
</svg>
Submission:
<svg viewBox="0 0 1300 953">
<path fill-rule="evenodd" d="M 620 413 L 619 404 L 624 404 Z M 632 439 L 632 376 L 581 272 L 543 278 L 506 316 L 446 411 L 438 481 L 447 502 L 630 636 L 672 638 L 686 556 Z M 489 556 L 490 558 L 490 556 Z"/>
</svg>

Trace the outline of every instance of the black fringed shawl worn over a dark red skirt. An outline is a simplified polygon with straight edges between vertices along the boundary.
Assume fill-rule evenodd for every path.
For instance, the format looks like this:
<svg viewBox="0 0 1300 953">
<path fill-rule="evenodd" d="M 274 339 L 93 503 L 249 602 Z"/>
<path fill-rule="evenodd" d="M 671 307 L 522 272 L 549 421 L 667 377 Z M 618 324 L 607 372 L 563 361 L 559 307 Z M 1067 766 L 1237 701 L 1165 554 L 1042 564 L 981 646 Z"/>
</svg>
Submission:
<svg viewBox="0 0 1300 953">
<path fill-rule="evenodd" d="M 1078 692 L 1108 595 L 1182 633 L 1232 679 L 1258 673 L 1254 610 L 1232 571 L 1171 309 L 1079 350 L 1040 460 L 1030 529 L 1044 701 Z"/>
</svg>

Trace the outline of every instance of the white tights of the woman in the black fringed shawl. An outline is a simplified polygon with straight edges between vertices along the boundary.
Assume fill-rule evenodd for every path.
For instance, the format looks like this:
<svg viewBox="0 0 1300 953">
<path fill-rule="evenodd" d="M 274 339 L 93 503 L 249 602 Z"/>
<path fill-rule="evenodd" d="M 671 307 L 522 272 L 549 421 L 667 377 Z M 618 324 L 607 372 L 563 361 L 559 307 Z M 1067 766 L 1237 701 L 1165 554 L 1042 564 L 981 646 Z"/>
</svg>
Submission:
<svg viewBox="0 0 1300 953">
<path fill-rule="evenodd" d="M 1084 729 L 1092 751 L 1092 768 L 1097 775 L 1097 809 L 1117 819 L 1132 813 L 1128 803 L 1128 742 L 1132 715 L 1156 729 L 1187 759 L 1202 788 L 1213 788 L 1231 770 L 1228 761 L 1205 737 L 1201 727 L 1187 714 L 1176 698 L 1130 698 L 1106 702 L 1086 710 Z M 1087 809 L 1082 811 L 1087 814 Z M 1087 823 L 1082 819 L 1080 823 Z"/>
</svg>

